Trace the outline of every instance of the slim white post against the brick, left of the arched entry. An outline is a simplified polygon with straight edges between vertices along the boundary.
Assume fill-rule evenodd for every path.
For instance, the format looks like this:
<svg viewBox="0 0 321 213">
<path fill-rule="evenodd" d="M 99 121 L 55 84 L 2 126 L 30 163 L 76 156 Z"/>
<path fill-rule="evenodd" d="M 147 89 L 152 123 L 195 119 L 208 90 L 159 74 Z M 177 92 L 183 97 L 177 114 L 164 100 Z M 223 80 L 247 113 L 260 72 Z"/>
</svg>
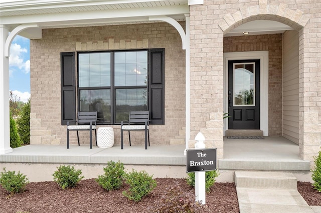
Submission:
<svg viewBox="0 0 321 213">
<path fill-rule="evenodd" d="M 185 14 L 185 31 L 185 149 L 187 150 L 191 135 L 190 14 Z"/>
</svg>

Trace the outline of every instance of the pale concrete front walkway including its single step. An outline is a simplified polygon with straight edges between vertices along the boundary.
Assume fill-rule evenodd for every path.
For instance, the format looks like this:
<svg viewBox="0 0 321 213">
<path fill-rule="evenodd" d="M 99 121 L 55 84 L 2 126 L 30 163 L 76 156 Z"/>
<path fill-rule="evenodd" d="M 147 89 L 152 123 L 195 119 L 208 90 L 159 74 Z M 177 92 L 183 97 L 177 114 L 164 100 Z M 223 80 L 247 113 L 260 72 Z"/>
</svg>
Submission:
<svg viewBox="0 0 321 213">
<path fill-rule="evenodd" d="M 296 188 L 291 173 L 235 171 L 240 212 L 321 212 L 321 206 L 309 206 Z"/>
</svg>

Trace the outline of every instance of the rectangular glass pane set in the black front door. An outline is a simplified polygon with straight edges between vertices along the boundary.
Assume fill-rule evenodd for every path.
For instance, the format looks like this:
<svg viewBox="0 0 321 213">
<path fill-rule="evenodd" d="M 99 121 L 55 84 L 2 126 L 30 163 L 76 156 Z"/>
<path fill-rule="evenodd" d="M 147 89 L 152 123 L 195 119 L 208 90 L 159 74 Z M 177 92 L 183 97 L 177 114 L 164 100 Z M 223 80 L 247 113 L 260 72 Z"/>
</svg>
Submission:
<svg viewBox="0 0 321 213">
<path fill-rule="evenodd" d="M 233 64 L 234 106 L 255 105 L 254 63 Z"/>
</svg>

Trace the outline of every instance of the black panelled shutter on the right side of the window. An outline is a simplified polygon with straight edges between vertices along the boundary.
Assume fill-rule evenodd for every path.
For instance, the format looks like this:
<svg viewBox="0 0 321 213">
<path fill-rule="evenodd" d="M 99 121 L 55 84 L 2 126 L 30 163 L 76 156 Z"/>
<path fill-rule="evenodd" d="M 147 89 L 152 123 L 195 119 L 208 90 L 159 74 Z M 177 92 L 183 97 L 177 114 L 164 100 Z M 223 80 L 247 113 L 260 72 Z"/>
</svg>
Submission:
<svg viewBox="0 0 321 213">
<path fill-rule="evenodd" d="M 165 49 L 149 49 L 148 102 L 151 124 L 165 124 Z"/>
</svg>

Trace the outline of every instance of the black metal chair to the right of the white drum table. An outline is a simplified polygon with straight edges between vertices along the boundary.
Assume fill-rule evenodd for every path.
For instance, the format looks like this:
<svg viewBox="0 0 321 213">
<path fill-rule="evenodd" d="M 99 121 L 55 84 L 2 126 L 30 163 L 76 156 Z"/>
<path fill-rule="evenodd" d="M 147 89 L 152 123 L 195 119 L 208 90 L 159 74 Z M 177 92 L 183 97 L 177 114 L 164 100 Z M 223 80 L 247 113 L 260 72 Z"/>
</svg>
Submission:
<svg viewBox="0 0 321 213">
<path fill-rule="evenodd" d="M 148 137 L 148 146 L 150 145 L 149 144 L 149 111 L 129 111 L 129 119 L 123 120 L 120 122 L 121 149 L 124 148 L 123 130 L 128 131 L 130 146 L 131 146 L 130 131 L 144 130 L 145 131 L 145 149 L 147 149 L 147 137 Z"/>
</svg>

